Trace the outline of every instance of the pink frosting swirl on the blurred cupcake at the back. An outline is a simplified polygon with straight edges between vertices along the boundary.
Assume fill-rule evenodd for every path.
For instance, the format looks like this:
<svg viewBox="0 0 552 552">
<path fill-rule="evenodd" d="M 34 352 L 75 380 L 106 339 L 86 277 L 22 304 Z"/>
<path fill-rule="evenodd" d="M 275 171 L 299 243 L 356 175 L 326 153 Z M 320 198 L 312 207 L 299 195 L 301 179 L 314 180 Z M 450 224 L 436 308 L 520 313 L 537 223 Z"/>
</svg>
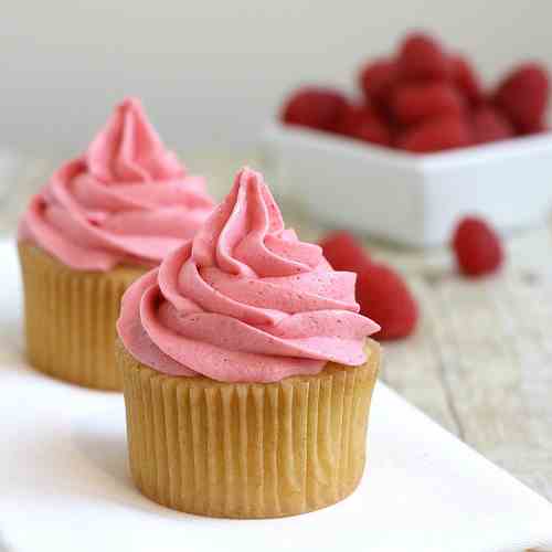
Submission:
<svg viewBox="0 0 552 552">
<path fill-rule="evenodd" d="M 128 98 L 88 150 L 33 197 L 19 238 L 75 269 L 153 266 L 195 234 L 213 205 L 203 178 L 187 176 Z"/>
</svg>

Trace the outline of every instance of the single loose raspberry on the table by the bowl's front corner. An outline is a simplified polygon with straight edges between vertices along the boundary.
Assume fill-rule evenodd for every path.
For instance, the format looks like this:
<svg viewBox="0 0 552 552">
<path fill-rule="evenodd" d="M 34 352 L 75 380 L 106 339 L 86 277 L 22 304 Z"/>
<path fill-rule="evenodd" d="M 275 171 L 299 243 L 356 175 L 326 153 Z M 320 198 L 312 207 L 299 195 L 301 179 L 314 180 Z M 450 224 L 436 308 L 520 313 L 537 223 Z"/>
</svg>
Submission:
<svg viewBox="0 0 552 552">
<path fill-rule="evenodd" d="M 496 232 L 481 219 L 466 216 L 456 227 L 453 248 L 458 267 L 466 276 L 497 270 L 503 261 L 502 245 Z"/>
</svg>

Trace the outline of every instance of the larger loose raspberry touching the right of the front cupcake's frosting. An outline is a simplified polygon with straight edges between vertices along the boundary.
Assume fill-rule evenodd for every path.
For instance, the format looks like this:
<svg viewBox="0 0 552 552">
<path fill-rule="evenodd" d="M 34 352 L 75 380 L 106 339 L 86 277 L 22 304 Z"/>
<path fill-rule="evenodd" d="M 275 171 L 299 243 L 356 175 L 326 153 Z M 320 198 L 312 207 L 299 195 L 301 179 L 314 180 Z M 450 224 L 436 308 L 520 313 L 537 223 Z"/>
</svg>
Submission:
<svg viewBox="0 0 552 552">
<path fill-rule="evenodd" d="M 357 279 L 360 311 L 381 326 L 374 338 L 399 339 L 416 328 L 418 307 L 401 276 L 391 267 L 370 264 Z"/>
</svg>

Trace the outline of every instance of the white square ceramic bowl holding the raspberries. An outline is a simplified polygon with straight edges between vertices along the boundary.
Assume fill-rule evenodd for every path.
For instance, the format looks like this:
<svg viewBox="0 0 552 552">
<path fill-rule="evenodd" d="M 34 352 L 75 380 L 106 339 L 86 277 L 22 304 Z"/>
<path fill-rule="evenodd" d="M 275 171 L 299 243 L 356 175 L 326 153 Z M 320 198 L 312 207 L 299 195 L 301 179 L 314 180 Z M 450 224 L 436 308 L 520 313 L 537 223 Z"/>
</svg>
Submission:
<svg viewBox="0 0 552 552">
<path fill-rule="evenodd" d="M 412 155 L 272 124 L 262 147 L 277 189 L 317 219 L 404 245 L 440 245 L 470 213 L 530 226 L 552 205 L 552 134 Z"/>
</svg>

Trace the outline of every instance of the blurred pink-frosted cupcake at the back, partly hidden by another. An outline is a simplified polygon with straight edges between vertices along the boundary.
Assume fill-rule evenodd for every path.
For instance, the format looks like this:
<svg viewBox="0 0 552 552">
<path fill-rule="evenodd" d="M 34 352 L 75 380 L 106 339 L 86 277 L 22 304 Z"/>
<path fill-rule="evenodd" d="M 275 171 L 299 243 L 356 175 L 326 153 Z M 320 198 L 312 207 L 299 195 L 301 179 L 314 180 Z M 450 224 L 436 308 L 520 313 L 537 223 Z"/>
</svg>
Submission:
<svg viewBox="0 0 552 552">
<path fill-rule="evenodd" d="M 213 209 L 137 99 L 34 195 L 19 225 L 31 364 L 88 388 L 120 389 L 115 322 L 131 282 L 192 237 Z"/>
</svg>

